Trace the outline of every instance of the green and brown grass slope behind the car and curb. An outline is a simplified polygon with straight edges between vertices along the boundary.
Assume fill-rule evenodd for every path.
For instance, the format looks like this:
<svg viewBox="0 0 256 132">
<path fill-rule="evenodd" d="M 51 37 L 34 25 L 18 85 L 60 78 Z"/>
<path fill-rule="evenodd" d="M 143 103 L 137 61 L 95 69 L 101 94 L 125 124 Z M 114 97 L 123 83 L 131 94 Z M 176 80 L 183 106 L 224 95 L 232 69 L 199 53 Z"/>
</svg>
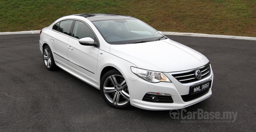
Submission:
<svg viewBox="0 0 256 132">
<path fill-rule="evenodd" d="M 0 32 L 41 30 L 81 12 L 129 15 L 159 31 L 256 37 L 256 0 L 0 0 Z"/>
</svg>

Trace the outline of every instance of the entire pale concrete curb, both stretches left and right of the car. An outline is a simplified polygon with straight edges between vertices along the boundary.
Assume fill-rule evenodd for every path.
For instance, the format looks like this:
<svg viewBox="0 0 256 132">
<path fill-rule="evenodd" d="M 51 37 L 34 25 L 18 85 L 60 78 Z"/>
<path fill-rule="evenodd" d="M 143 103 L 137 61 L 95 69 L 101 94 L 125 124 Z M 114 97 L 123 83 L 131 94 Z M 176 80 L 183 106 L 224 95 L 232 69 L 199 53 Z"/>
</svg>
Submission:
<svg viewBox="0 0 256 132">
<path fill-rule="evenodd" d="M 21 32 L 0 32 L 0 35 L 11 35 L 11 34 L 39 34 L 40 31 L 41 31 L 41 30 L 21 31 Z M 162 33 L 163 33 L 163 35 L 178 35 L 178 36 L 193 36 L 193 37 L 208 37 L 208 38 L 226 38 L 226 39 L 256 40 L 255 37 L 243 37 L 243 36 L 196 34 L 196 33 L 183 33 L 183 32 L 162 32 Z"/>
</svg>

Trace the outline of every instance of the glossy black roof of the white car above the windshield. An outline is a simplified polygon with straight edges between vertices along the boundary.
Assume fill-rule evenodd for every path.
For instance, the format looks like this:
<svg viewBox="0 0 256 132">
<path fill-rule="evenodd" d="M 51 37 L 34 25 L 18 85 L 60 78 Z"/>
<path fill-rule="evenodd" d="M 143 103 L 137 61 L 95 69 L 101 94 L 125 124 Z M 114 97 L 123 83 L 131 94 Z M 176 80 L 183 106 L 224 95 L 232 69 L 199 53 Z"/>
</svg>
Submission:
<svg viewBox="0 0 256 132">
<path fill-rule="evenodd" d="M 113 20 L 113 19 L 136 19 L 131 16 L 107 14 L 107 13 L 86 13 L 86 14 L 75 14 L 76 16 L 82 16 L 89 19 L 90 21 L 97 20 Z"/>
</svg>

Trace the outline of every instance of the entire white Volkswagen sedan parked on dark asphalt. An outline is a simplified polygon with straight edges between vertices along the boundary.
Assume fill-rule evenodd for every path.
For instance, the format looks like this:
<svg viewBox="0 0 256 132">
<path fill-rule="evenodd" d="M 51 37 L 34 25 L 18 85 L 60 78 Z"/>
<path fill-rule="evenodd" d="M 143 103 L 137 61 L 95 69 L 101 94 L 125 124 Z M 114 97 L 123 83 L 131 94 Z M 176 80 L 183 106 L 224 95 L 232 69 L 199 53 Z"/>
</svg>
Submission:
<svg viewBox="0 0 256 132">
<path fill-rule="evenodd" d="M 130 16 L 64 16 L 42 29 L 39 46 L 48 70 L 99 89 L 114 108 L 182 109 L 212 94 L 204 55 Z"/>
</svg>

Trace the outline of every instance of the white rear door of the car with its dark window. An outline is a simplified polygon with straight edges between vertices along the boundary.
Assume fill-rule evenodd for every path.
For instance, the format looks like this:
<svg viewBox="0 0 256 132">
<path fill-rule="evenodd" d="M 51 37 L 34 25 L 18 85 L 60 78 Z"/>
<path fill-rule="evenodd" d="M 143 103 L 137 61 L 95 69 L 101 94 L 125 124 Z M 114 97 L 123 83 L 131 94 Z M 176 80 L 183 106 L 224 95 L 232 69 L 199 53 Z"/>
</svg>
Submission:
<svg viewBox="0 0 256 132">
<path fill-rule="evenodd" d="M 70 35 L 70 27 L 73 20 L 63 20 L 56 23 L 50 33 L 50 46 L 54 61 L 68 68 L 67 42 Z"/>
</svg>

